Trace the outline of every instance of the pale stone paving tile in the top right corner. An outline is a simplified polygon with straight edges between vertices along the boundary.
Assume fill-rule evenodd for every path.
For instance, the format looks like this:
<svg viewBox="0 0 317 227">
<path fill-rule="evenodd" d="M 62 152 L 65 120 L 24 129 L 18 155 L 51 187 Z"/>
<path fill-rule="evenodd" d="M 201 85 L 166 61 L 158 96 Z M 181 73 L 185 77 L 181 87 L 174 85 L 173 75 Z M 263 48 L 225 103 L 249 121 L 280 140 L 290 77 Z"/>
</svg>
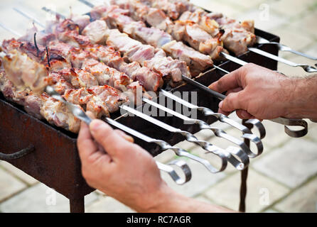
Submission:
<svg viewBox="0 0 317 227">
<path fill-rule="evenodd" d="M 308 9 L 309 5 L 314 4 L 315 0 L 281 0 L 281 1 L 273 1 L 270 4 L 271 9 L 281 13 L 284 16 L 296 16 Z"/>
</svg>

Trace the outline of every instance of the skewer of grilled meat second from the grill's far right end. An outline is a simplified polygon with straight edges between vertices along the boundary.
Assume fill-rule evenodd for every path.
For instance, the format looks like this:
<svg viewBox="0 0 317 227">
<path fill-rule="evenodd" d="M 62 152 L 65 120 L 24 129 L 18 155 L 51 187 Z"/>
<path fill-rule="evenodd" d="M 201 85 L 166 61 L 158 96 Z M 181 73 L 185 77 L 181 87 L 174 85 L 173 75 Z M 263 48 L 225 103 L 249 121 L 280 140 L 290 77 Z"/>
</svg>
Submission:
<svg viewBox="0 0 317 227">
<path fill-rule="evenodd" d="M 130 1 L 129 4 L 135 6 L 134 9 L 131 9 L 131 7 L 127 7 L 125 8 L 125 10 L 122 10 L 118 9 L 119 6 L 112 5 L 97 6 L 92 9 L 92 11 L 99 11 L 101 16 L 109 18 L 110 20 L 115 21 L 115 23 L 119 22 L 119 26 L 122 25 L 122 23 L 128 25 L 129 17 L 124 14 L 129 13 L 129 15 L 135 20 L 141 20 L 149 23 L 149 25 L 152 26 L 152 28 L 149 29 L 161 29 L 162 31 L 164 31 L 164 33 L 170 34 L 173 39 L 186 42 L 195 50 L 198 50 L 203 54 L 210 55 L 213 60 L 220 60 L 222 58 L 220 56 L 220 53 L 227 52 L 227 50 L 224 50 L 224 48 L 222 47 L 222 33 L 219 33 L 219 29 L 217 29 L 218 35 L 215 35 L 215 38 L 213 38 L 213 36 L 200 29 L 200 27 L 192 21 L 171 21 L 170 18 L 163 15 L 163 11 L 159 9 L 148 8 L 143 4 L 139 4 L 137 1 Z M 102 13 L 102 11 L 104 12 Z M 154 20 L 154 18 L 156 19 Z M 140 22 L 135 24 L 136 27 L 142 26 L 142 23 Z M 144 27 L 146 27 L 144 23 L 143 25 Z M 138 31 L 137 29 L 138 28 L 135 28 L 134 30 L 129 30 Z M 129 30 L 127 30 L 128 33 Z"/>
</svg>

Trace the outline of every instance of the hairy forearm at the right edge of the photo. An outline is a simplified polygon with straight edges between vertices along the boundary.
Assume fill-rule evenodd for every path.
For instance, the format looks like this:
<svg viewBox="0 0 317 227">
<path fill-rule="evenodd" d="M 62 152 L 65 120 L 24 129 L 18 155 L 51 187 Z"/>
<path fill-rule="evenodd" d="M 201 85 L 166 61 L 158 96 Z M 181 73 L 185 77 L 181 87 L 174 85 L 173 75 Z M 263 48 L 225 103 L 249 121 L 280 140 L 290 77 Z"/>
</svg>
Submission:
<svg viewBox="0 0 317 227">
<path fill-rule="evenodd" d="M 317 119 L 317 75 L 290 78 L 286 117 Z"/>
</svg>

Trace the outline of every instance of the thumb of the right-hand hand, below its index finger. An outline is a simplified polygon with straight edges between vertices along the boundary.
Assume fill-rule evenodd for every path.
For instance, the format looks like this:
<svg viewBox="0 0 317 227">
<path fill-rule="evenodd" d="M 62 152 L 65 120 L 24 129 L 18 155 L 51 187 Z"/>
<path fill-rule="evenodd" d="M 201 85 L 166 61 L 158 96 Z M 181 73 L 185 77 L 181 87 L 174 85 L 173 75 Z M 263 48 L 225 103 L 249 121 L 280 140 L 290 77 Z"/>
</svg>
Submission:
<svg viewBox="0 0 317 227">
<path fill-rule="evenodd" d="M 246 103 L 241 100 L 242 92 L 243 91 L 232 92 L 228 94 L 223 101 L 220 101 L 219 108 L 225 112 L 232 112 L 237 109 L 243 109 L 247 111 L 247 109 L 245 109 Z"/>
</svg>

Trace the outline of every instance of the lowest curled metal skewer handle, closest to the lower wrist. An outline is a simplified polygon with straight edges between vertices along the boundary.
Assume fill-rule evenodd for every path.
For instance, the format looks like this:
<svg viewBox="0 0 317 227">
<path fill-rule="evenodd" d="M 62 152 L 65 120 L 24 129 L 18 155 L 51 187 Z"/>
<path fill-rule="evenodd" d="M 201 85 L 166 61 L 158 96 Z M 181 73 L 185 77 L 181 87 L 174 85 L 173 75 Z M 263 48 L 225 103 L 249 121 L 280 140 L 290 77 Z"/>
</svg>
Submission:
<svg viewBox="0 0 317 227">
<path fill-rule="evenodd" d="M 173 181 L 176 182 L 176 184 L 185 184 L 191 179 L 190 168 L 188 167 L 187 163 L 183 160 L 173 160 L 172 162 L 168 162 L 168 165 L 165 165 L 161 162 L 156 162 L 156 165 L 159 168 L 159 170 L 167 172 L 168 175 L 170 175 L 170 177 L 173 179 Z M 185 178 L 182 179 L 170 165 L 177 165 L 178 167 L 181 167 L 181 170 L 183 171 Z"/>
</svg>

